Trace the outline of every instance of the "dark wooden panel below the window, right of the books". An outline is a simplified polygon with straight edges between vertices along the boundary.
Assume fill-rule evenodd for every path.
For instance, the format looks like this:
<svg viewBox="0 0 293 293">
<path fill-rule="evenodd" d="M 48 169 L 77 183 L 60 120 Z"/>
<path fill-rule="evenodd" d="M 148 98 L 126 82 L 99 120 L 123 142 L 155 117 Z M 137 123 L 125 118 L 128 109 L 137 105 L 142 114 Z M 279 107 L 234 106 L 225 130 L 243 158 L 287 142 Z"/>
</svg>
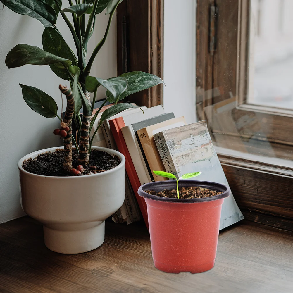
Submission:
<svg viewBox="0 0 293 293">
<path fill-rule="evenodd" d="M 221 154 L 218 156 L 240 207 L 293 219 L 292 169 L 248 163 L 247 160 Z"/>
</svg>

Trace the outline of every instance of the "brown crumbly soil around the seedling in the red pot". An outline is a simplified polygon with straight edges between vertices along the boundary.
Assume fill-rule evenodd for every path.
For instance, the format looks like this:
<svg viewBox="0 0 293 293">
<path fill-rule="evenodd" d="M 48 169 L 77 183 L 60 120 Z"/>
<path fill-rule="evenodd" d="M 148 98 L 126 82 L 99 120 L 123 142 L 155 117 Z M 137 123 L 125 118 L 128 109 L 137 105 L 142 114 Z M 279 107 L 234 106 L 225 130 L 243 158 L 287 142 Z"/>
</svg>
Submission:
<svg viewBox="0 0 293 293">
<path fill-rule="evenodd" d="M 177 189 L 164 189 L 159 193 L 156 193 L 154 190 L 146 190 L 146 193 L 151 195 L 157 195 L 160 197 L 170 197 L 170 198 L 178 198 Z M 202 188 L 198 186 L 193 187 L 182 187 L 179 188 L 179 198 L 202 198 L 202 197 L 209 197 L 213 195 L 221 194 L 221 191 L 217 190 L 210 190 L 207 188 Z"/>
</svg>

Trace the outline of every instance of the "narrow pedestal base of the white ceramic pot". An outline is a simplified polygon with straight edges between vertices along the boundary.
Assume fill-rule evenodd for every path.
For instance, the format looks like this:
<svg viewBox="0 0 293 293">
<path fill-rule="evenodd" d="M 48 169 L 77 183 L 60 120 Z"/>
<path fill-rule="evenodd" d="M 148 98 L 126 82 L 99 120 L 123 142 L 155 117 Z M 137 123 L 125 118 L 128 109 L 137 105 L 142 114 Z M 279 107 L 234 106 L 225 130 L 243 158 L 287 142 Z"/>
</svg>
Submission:
<svg viewBox="0 0 293 293">
<path fill-rule="evenodd" d="M 55 230 L 46 226 L 43 228 L 45 245 L 59 253 L 74 254 L 91 251 L 101 246 L 105 240 L 105 221 L 94 227 L 77 231 Z"/>
</svg>

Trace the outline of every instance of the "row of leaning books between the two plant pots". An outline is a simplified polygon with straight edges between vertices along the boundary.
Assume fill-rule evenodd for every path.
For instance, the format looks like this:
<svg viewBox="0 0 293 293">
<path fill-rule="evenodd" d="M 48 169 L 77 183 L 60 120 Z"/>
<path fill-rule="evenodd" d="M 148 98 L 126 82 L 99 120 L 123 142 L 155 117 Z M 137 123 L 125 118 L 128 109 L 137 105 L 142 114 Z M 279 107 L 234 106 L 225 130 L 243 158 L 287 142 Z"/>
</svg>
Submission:
<svg viewBox="0 0 293 293">
<path fill-rule="evenodd" d="M 103 111 L 111 106 L 108 104 L 102 108 L 91 135 Z M 228 185 L 206 122 L 186 125 L 184 117 L 176 118 L 173 113 L 165 113 L 162 105 L 131 108 L 110 117 L 102 123 L 93 138 L 93 145 L 116 149 L 126 159 L 125 202 L 113 215 L 115 222 L 130 224 L 143 217 L 148 227 L 147 206 L 137 190 L 145 183 L 169 180 L 155 175 L 153 170 L 167 171 L 177 178 L 185 173 L 202 171 L 196 180 Z M 233 195 L 227 197 L 220 229 L 241 219 L 243 215 Z"/>
</svg>

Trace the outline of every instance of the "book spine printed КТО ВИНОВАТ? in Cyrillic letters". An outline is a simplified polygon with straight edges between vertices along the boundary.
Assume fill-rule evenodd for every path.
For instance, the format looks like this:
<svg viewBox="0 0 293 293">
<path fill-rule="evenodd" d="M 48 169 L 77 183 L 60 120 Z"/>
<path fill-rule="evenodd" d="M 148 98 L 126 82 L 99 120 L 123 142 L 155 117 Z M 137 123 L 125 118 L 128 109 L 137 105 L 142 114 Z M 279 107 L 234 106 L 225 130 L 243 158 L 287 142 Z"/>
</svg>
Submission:
<svg viewBox="0 0 293 293">
<path fill-rule="evenodd" d="M 154 140 L 156 142 L 156 146 L 160 153 L 166 172 L 172 173 L 173 175 L 178 177 L 177 170 L 175 168 L 172 156 L 168 149 L 168 145 L 167 145 L 168 139 L 165 137 L 164 132 L 159 132 L 154 134 Z"/>
</svg>

